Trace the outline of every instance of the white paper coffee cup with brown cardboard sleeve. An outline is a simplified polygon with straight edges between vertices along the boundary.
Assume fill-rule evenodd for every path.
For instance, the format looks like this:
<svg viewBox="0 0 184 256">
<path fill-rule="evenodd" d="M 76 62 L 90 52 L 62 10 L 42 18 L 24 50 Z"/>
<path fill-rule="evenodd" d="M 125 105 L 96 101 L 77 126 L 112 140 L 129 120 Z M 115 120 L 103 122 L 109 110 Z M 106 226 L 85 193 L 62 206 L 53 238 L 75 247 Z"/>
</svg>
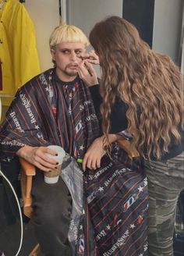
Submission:
<svg viewBox="0 0 184 256">
<path fill-rule="evenodd" d="M 48 146 L 52 150 L 56 151 L 58 155 L 47 154 L 49 158 L 53 158 L 58 162 L 57 169 L 51 169 L 49 172 L 44 172 L 44 182 L 48 184 L 53 184 L 58 182 L 58 177 L 62 169 L 62 161 L 65 157 L 65 151 L 62 147 L 51 145 Z"/>
</svg>

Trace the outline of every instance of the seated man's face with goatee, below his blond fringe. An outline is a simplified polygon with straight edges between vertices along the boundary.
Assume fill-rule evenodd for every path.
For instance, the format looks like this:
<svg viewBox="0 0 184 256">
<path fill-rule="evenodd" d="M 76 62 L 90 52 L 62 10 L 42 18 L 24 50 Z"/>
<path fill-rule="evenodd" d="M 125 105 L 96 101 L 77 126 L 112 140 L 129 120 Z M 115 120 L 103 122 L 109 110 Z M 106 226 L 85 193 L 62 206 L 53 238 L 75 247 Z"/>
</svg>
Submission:
<svg viewBox="0 0 184 256">
<path fill-rule="evenodd" d="M 61 43 L 51 49 L 52 59 L 56 63 L 56 73 L 62 81 L 73 81 L 82 62 L 85 46 L 82 43 Z"/>
</svg>

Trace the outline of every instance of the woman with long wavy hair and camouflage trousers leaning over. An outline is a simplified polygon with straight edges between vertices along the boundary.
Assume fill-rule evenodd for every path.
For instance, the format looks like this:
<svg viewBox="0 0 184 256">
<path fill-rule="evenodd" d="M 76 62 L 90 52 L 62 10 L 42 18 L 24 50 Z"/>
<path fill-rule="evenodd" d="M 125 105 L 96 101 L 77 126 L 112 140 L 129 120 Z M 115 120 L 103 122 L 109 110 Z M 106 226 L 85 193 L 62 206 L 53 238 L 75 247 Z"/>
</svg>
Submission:
<svg viewBox="0 0 184 256">
<path fill-rule="evenodd" d="M 96 23 L 90 44 L 101 65 L 104 137 L 97 147 L 105 141 L 110 151 L 108 135 L 121 134 L 121 125 L 131 134 L 148 178 L 149 255 L 172 256 L 175 208 L 184 187 L 182 74 L 172 59 L 151 50 L 136 28 L 118 16 Z M 90 148 L 84 163 L 92 168 L 96 160 L 91 155 L 96 157 Z"/>
</svg>

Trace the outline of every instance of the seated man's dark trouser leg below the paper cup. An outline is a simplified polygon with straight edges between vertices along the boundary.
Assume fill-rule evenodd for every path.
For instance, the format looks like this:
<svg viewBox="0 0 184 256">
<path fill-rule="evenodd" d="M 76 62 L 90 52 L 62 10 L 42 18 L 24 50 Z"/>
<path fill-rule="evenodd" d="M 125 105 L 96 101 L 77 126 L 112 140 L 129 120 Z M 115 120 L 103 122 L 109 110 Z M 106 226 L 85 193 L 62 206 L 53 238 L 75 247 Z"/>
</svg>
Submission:
<svg viewBox="0 0 184 256">
<path fill-rule="evenodd" d="M 58 183 L 44 183 L 43 172 L 37 170 L 33 189 L 33 222 L 37 240 L 47 256 L 71 256 L 67 239 L 72 199 L 62 178 Z"/>
</svg>

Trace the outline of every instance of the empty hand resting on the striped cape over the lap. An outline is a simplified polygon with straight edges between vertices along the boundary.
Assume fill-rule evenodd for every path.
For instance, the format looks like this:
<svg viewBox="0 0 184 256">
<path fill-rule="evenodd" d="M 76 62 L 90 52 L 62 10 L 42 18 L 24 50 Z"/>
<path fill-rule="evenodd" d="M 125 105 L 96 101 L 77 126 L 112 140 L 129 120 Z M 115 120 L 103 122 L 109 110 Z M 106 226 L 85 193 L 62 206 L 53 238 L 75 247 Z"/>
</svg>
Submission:
<svg viewBox="0 0 184 256">
<path fill-rule="evenodd" d="M 105 155 L 103 138 L 104 137 L 98 137 L 90 145 L 90 148 L 87 149 L 82 163 L 83 171 L 85 171 L 86 168 L 97 169 L 101 167 L 101 158 Z"/>
</svg>

